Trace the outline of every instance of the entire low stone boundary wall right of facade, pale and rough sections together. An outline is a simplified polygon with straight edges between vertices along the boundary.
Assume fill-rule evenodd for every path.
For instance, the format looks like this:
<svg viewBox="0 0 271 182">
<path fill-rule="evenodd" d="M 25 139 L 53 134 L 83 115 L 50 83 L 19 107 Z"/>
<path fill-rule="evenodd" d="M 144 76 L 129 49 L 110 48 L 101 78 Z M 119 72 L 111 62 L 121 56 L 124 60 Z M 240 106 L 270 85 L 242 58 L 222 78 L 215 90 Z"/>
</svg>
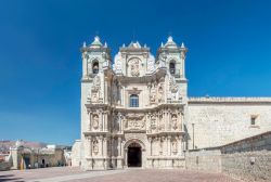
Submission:
<svg viewBox="0 0 271 182">
<path fill-rule="evenodd" d="M 244 181 L 271 181 L 271 132 L 220 147 L 189 151 L 185 168 L 222 172 Z"/>
</svg>

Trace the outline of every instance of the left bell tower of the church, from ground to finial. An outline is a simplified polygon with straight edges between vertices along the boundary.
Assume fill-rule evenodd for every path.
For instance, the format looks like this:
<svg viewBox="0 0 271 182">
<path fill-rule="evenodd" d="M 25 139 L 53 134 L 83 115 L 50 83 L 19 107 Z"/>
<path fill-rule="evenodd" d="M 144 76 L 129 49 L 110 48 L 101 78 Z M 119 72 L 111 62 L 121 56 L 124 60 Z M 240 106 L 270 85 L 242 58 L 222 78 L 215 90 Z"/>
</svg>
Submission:
<svg viewBox="0 0 271 182">
<path fill-rule="evenodd" d="M 111 99 L 111 50 L 96 36 L 83 43 L 81 77 L 81 161 L 85 169 L 106 169 L 108 101 Z M 98 134 L 100 133 L 100 134 Z M 99 158 L 95 165 L 93 158 Z"/>
</svg>

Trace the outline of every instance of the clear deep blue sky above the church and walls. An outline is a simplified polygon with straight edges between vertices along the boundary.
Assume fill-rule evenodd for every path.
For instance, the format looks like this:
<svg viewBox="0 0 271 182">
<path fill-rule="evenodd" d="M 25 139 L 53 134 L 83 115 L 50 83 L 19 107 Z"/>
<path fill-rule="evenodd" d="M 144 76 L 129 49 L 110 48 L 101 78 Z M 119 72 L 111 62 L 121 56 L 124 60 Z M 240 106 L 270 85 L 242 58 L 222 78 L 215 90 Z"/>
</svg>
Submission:
<svg viewBox="0 0 271 182">
<path fill-rule="evenodd" d="M 271 95 L 271 1 L 0 2 L 0 139 L 72 144 L 80 131 L 79 48 L 99 31 L 115 54 L 133 37 L 189 48 L 189 95 Z"/>
</svg>

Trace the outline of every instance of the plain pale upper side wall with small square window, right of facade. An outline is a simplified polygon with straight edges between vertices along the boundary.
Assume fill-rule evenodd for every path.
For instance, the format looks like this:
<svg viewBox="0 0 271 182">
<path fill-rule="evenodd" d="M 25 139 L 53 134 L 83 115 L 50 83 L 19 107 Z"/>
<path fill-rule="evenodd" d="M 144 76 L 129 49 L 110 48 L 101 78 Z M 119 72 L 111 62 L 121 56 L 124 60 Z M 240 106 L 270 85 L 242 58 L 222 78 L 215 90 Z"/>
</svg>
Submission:
<svg viewBox="0 0 271 182">
<path fill-rule="evenodd" d="M 193 133 L 194 148 L 206 148 L 271 131 L 271 99 L 198 98 L 190 99 L 188 108 L 189 150 Z"/>
</svg>

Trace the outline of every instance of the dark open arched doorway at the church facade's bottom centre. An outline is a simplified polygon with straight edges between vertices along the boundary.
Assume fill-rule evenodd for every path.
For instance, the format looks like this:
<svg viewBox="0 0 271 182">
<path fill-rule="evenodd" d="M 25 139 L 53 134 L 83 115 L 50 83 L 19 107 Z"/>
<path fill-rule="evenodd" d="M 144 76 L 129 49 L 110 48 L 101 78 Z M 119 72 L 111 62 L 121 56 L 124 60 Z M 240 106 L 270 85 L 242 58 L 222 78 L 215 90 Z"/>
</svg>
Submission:
<svg viewBox="0 0 271 182">
<path fill-rule="evenodd" d="M 127 153 L 128 167 L 141 167 L 142 166 L 142 148 L 138 143 L 131 143 L 128 146 Z"/>
</svg>

